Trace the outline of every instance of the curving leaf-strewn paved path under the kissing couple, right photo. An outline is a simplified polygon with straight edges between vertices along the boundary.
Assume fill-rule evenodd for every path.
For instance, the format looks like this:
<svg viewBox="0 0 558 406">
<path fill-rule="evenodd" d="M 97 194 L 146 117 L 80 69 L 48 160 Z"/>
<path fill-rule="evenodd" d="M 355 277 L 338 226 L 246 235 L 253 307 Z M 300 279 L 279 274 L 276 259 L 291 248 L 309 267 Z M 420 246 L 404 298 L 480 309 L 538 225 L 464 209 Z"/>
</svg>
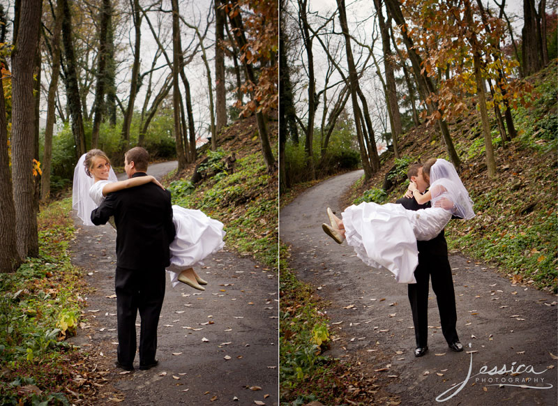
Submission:
<svg viewBox="0 0 558 406">
<path fill-rule="evenodd" d="M 292 266 L 330 303 L 331 355 L 352 366 L 360 362 L 363 379 L 376 377 L 401 405 L 434 405 L 454 393 L 447 405 L 557 405 L 556 296 L 511 285 L 487 265 L 460 255 L 451 255 L 450 263 L 458 333 L 470 353 L 448 349 L 430 289 L 430 352 L 414 357 L 407 286 L 395 283 L 388 271 L 368 268 L 346 243 L 339 246 L 322 232 L 326 207 L 342 211 L 338 196 L 361 175 L 351 172 L 319 183 L 280 213 L 280 238 L 291 246 Z M 525 366 L 532 370 L 526 373 Z M 471 378 L 458 390 L 469 368 Z M 499 386 L 504 378 L 506 385 L 552 388 Z"/>
</svg>

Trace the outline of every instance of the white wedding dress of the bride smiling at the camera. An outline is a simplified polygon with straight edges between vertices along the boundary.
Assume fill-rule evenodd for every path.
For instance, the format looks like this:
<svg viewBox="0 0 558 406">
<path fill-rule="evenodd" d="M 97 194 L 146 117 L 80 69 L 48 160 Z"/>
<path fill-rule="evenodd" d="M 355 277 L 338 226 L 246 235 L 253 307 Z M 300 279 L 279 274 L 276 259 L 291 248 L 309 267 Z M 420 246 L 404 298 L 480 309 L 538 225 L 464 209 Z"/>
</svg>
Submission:
<svg viewBox="0 0 558 406">
<path fill-rule="evenodd" d="M 112 181 L 97 181 L 89 188 L 89 197 L 96 207 L 105 199 L 103 187 Z M 91 210 L 93 210 L 91 209 Z M 91 212 L 89 212 L 91 215 Z M 203 266 L 204 258 L 218 252 L 225 243 L 223 223 L 209 218 L 202 211 L 172 206 L 172 222 L 176 229 L 174 241 L 170 244 L 170 266 L 167 271 L 172 286 L 179 284 L 179 273 L 193 266 Z M 85 222 L 84 222 L 85 223 Z"/>
</svg>

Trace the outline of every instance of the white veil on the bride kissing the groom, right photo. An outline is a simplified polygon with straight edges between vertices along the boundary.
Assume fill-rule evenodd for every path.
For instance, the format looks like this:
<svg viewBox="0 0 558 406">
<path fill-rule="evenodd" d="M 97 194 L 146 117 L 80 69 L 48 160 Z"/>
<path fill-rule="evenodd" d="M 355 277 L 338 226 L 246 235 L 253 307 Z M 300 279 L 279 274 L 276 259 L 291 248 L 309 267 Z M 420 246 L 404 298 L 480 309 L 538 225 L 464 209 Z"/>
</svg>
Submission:
<svg viewBox="0 0 558 406">
<path fill-rule="evenodd" d="M 443 188 L 435 188 L 435 186 Z M 436 200 L 446 197 L 454 204 L 453 214 L 455 216 L 469 220 L 474 218 L 473 201 L 469 197 L 469 192 L 455 171 L 455 167 L 447 160 L 438 158 L 436 163 L 430 168 L 430 190 L 432 191 L 432 207 Z M 437 192 L 443 190 L 443 193 Z"/>
</svg>

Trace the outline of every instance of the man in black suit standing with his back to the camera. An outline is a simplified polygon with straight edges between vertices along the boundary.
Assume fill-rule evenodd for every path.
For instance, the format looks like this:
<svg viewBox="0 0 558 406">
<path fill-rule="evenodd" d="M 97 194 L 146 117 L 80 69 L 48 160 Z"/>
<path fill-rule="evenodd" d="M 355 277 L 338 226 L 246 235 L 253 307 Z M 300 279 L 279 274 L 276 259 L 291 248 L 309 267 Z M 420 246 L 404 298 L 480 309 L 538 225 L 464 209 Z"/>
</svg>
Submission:
<svg viewBox="0 0 558 406">
<path fill-rule="evenodd" d="M 146 176 L 149 153 L 136 146 L 124 154 L 128 178 Z M 156 366 L 157 326 L 165 296 L 165 267 L 174 239 L 170 193 L 153 182 L 110 193 L 91 212 L 95 225 L 116 223 L 116 309 L 118 359 L 116 366 L 133 370 L 135 321 L 139 310 L 140 370 Z"/>
</svg>

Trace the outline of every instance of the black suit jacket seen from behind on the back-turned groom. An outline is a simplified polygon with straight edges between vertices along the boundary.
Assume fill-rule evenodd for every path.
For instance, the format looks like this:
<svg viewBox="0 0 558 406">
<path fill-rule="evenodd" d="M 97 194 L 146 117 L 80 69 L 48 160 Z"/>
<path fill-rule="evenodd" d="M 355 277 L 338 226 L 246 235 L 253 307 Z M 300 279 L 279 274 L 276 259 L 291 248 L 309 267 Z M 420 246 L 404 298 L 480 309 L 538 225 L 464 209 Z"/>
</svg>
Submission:
<svg viewBox="0 0 558 406">
<path fill-rule="evenodd" d="M 133 178 L 146 176 L 136 172 Z M 109 193 L 91 212 L 95 225 L 116 223 L 116 266 L 146 269 L 169 266 L 169 244 L 176 231 L 172 223 L 170 192 L 153 182 Z"/>
</svg>

